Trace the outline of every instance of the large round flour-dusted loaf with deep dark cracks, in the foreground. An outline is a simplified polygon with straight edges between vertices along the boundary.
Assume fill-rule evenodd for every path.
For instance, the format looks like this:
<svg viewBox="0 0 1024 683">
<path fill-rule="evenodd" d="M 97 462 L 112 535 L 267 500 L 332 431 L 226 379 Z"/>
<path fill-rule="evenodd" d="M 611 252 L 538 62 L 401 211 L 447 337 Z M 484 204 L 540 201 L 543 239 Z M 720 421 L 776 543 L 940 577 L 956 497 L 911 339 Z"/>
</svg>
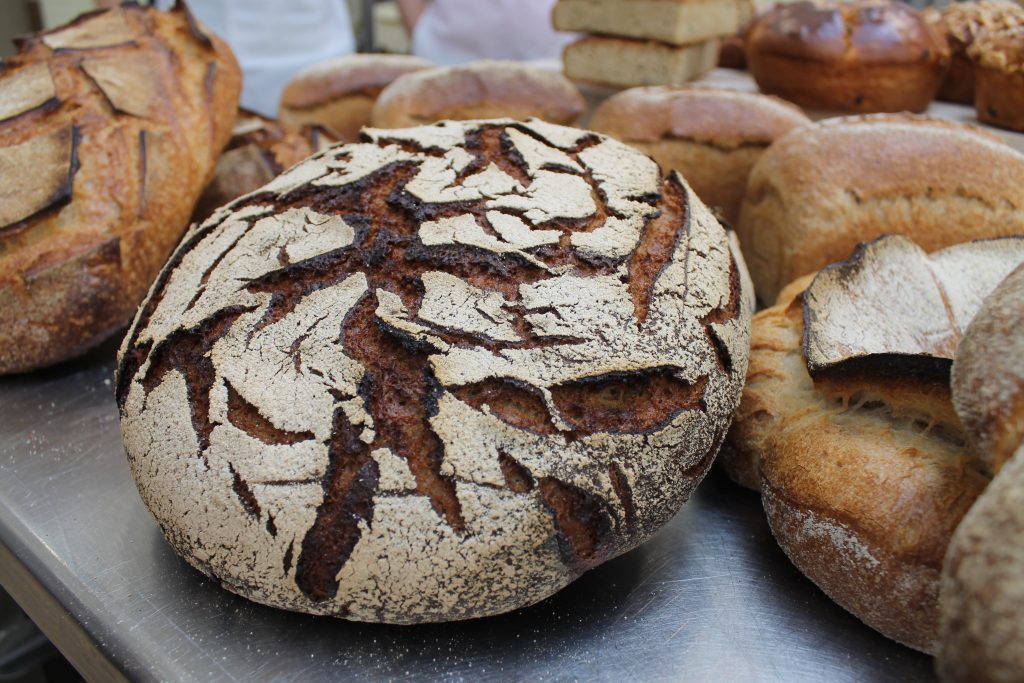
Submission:
<svg viewBox="0 0 1024 683">
<path fill-rule="evenodd" d="M 532 120 L 367 129 L 194 229 L 122 347 L 142 500 L 253 600 L 438 622 L 644 542 L 718 451 L 750 283 L 678 174 Z"/>
</svg>

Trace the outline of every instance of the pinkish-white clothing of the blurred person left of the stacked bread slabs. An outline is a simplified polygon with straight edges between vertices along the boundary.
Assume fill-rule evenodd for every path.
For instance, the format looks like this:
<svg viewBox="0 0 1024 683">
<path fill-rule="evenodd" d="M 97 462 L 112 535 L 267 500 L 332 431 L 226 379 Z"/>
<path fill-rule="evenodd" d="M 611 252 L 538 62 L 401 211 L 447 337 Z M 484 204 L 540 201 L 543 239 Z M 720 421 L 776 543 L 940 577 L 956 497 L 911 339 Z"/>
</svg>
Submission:
<svg viewBox="0 0 1024 683">
<path fill-rule="evenodd" d="M 551 26 L 555 0 L 433 0 L 413 31 L 413 54 L 438 65 L 558 59 L 575 34 Z"/>
</svg>

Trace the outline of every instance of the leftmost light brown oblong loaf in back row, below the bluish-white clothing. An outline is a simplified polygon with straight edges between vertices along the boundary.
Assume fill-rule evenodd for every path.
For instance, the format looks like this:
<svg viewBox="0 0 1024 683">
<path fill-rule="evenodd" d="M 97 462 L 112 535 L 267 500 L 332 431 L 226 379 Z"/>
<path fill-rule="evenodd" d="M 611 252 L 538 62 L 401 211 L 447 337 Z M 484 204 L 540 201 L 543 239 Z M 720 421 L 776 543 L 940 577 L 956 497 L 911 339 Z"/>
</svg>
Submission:
<svg viewBox="0 0 1024 683">
<path fill-rule="evenodd" d="M 306 124 L 327 126 L 342 141 L 354 142 L 359 129 L 370 125 L 370 113 L 385 87 L 399 76 L 432 66 L 409 54 L 347 54 L 311 65 L 285 86 L 281 123 L 292 130 Z"/>
</svg>

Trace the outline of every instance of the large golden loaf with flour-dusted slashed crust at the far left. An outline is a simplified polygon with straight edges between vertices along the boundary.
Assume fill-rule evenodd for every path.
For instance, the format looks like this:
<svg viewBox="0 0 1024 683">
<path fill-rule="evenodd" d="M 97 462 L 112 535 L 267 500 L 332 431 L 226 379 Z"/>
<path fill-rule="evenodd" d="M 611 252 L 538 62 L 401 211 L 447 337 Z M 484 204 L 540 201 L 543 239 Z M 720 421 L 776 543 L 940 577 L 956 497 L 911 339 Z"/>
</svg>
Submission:
<svg viewBox="0 0 1024 683">
<path fill-rule="evenodd" d="M 241 75 L 183 4 L 125 4 L 0 67 L 0 373 L 124 326 L 230 136 Z"/>
</svg>

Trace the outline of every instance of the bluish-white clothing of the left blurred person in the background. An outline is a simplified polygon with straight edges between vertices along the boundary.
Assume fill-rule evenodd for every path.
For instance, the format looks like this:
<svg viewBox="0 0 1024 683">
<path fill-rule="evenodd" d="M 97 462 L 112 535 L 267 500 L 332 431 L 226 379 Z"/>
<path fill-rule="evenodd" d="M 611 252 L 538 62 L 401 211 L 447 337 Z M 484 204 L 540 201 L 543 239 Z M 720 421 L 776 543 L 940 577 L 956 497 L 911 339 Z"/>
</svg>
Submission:
<svg viewBox="0 0 1024 683">
<path fill-rule="evenodd" d="M 345 0 L 190 0 L 188 7 L 230 45 L 242 66 L 242 106 L 276 118 L 285 84 L 303 67 L 350 54 Z"/>
</svg>

